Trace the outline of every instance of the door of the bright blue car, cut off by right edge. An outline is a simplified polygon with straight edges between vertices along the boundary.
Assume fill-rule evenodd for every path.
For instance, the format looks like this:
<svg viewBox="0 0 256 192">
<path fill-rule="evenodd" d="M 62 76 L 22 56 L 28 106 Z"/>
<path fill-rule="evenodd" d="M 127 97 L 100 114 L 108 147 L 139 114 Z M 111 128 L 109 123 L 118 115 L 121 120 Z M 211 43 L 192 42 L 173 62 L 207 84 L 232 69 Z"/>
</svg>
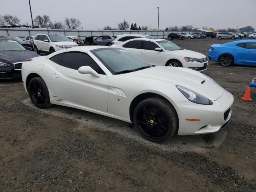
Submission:
<svg viewBox="0 0 256 192">
<path fill-rule="evenodd" d="M 246 43 L 242 60 L 246 64 L 256 65 L 256 43 Z"/>
</svg>

